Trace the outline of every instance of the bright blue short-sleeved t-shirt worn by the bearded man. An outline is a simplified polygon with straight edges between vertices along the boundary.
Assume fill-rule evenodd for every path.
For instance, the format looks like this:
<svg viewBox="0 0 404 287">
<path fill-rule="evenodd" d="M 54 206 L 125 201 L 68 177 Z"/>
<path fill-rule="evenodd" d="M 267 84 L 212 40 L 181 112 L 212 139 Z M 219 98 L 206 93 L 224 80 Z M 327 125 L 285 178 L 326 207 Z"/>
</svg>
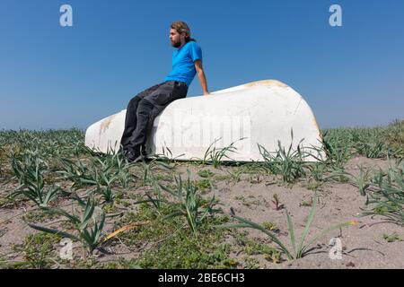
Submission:
<svg viewBox="0 0 404 287">
<path fill-rule="evenodd" d="M 164 81 L 185 82 L 189 86 L 197 74 L 195 61 L 202 60 L 202 50 L 195 41 L 189 41 L 181 48 L 172 52 L 172 71 Z"/>
</svg>

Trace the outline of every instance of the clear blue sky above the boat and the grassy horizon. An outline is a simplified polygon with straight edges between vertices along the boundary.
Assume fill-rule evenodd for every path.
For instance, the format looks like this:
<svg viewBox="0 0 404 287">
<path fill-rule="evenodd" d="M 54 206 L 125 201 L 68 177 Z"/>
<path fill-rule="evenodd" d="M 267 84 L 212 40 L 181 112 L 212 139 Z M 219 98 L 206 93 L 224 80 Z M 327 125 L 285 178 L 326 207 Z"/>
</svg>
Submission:
<svg viewBox="0 0 404 287">
<path fill-rule="evenodd" d="M 403 19 L 402 0 L 1 0 L 0 129 L 86 128 L 126 109 L 170 72 L 176 20 L 198 39 L 209 91 L 277 79 L 321 128 L 384 125 L 404 117 Z M 201 92 L 195 77 L 188 96 Z"/>
</svg>

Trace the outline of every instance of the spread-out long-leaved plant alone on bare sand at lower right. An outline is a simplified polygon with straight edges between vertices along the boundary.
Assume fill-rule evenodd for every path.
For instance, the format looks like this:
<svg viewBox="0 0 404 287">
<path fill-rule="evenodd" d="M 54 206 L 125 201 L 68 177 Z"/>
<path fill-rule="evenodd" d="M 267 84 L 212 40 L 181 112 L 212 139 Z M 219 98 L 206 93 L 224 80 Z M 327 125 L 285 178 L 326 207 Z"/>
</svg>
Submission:
<svg viewBox="0 0 404 287">
<path fill-rule="evenodd" d="M 312 220 L 314 219 L 314 214 L 316 212 L 316 206 L 317 206 L 317 196 L 314 196 L 312 210 L 309 213 L 309 217 L 306 222 L 306 226 L 303 230 L 303 235 L 302 235 L 298 245 L 296 245 L 296 240 L 294 238 L 294 225 L 292 223 L 289 213 L 287 213 L 287 211 L 286 211 L 286 218 L 287 218 L 287 223 L 289 226 L 290 244 L 293 248 L 292 249 L 293 251 L 289 250 L 289 248 L 286 248 L 285 244 L 277 237 L 277 234 L 275 234 L 274 232 L 271 232 L 264 226 L 259 225 L 258 223 L 251 222 L 245 218 L 237 216 L 234 213 L 233 208 L 231 208 L 232 217 L 242 223 L 228 224 L 228 225 L 224 225 L 224 227 L 226 227 L 226 228 L 252 228 L 252 229 L 260 230 L 260 231 L 264 232 L 265 234 L 267 234 L 268 237 L 277 244 L 278 248 L 280 248 L 282 250 L 282 252 L 285 253 L 285 256 L 289 260 L 298 259 L 298 258 L 304 257 L 309 252 L 308 248 L 317 239 L 320 239 L 322 236 L 326 235 L 327 233 L 329 233 L 332 230 L 338 230 L 342 227 L 349 226 L 349 225 L 356 223 L 356 222 L 351 221 L 351 222 L 343 222 L 343 223 L 339 223 L 337 225 L 333 225 L 333 226 L 329 227 L 328 229 L 322 230 L 321 232 L 317 233 L 316 235 L 314 235 L 312 237 L 312 239 L 309 239 L 307 243 L 304 243 L 307 239 L 307 236 L 309 235 L 310 226 L 312 225 Z"/>
</svg>

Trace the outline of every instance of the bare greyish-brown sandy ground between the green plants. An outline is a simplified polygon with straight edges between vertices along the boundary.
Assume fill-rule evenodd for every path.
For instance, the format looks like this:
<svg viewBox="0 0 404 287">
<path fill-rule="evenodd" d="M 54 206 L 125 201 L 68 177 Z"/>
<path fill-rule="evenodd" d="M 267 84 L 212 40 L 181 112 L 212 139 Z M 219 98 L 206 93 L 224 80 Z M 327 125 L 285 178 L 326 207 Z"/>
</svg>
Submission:
<svg viewBox="0 0 404 287">
<path fill-rule="evenodd" d="M 388 162 L 356 157 L 347 162 L 346 170 L 355 174 L 357 165 L 383 169 L 388 165 Z M 201 179 L 198 176 L 200 167 L 181 164 L 176 168 L 178 172 L 183 174 L 183 178 L 187 175 L 187 169 L 191 171 L 195 179 Z M 218 175 L 228 175 L 227 170 L 232 169 L 232 167 L 215 169 L 212 166 L 203 168 L 203 170 L 211 170 L 215 173 L 213 178 Z M 207 190 L 205 196 L 215 195 L 220 200 L 224 213 L 229 213 L 230 207 L 233 207 L 237 215 L 254 222 L 273 222 L 279 229 L 279 238 L 290 246 L 285 208 L 277 211 L 272 203 L 273 196 L 277 194 L 280 203 L 284 204 L 291 214 L 296 239 L 300 239 L 300 234 L 303 232 L 304 224 L 311 209 L 304 203 L 311 202 L 313 196 L 312 190 L 305 187 L 305 182 L 298 182 L 288 187 L 278 183 L 273 176 L 242 174 L 239 182 L 234 182 L 231 179 L 214 179 L 213 184 L 214 187 Z M 1 195 L 4 196 L 5 193 L 13 190 L 13 187 L 15 185 L 1 184 Z M 142 190 L 144 187 L 136 188 L 130 192 L 142 194 Z M 251 256 L 259 261 L 260 268 L 404 268 L 404 241 L 389 243 L 383 239 L 383 234 L 394 232 L 401 239 L 404 239 L 403 227 L 385 222 L 381 217 L 358 218 L 357 216 L 365 207 L 365 197 L 359 195 L 356 187 L 347 183 L 327 182 L 319 188 L 317 195 L 317 213 L 312 223 L 310 235 L 339 222 L 358 220 L 359 223 L 343 228 L 342 232 L 339 230 L 330 232 L 316 241 L 308 255 L 292 262 L 284 261 L 276 265 L 263 256 Z M 130 202 L 130 200 L 128 201 Z M 63 202 L 60 204 L 63 205 Z M 3 207 L 0 209 L 0 256 L 14 258 L 15 254 L 13 254 L 11 244 L 22 243 L 25 236 L 33 232 L 21 216 L 22 213 L 32 208 L 31 204 L 20 204 L 16 208 Z M 128 208 L 130 209 L 130 206 Z M 111 224 L 107 224 L 107 230 L 110 228 Z M 251 238 L 275 246 L 262 232 L 249 230 L 249 233 Z M 342 257 L 340 259 L 329 257 L 331 248 L 329 240 L 333 237 L 340 239 L 342 243 Z M 232 239 L 230 241 L 232 242 Z M 112 251 L 115 254 L 103 257 L 102 260 L 136 257 L 136 251 L 123 246 L 115 247 Z M 237 255 L 234 256 L 237 257 Z M 242 266 L 239 267 L 242 268 Z"/>
</svg>

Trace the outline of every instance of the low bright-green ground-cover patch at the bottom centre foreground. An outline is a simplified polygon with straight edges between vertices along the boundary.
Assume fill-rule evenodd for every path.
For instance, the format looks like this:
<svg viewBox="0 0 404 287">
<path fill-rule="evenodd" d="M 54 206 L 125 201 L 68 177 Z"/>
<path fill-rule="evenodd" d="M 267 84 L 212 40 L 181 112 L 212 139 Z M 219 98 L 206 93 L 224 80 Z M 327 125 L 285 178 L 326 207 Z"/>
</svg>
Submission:
<svg viewBox="0 0 404 287">
<path fill-rule="evenodd" d="M 136 259 L 119 261 L 121 267 L 198 269 L 233 268 L 237 265 L 237 262 L 230 258 L 231 246 L 221 243 L 224 242 L 228 231 L 215 229 L 215 225 L 228 222 L 228 217 L 209 218 L 201 223 L 196 235 L 192 230 L 184 228 L 180 217 L 167 222 L 162 216 L 156 216 L 149 204 L 141 204 L 139 207 L 137 213 L 127 213 L 119 222 L 119 226 L 145 219 L 152 219 L 152 222 L 119 234 L 119 239 L 128 247 L 140 248 L 142 251 Z"/>
</svg>

